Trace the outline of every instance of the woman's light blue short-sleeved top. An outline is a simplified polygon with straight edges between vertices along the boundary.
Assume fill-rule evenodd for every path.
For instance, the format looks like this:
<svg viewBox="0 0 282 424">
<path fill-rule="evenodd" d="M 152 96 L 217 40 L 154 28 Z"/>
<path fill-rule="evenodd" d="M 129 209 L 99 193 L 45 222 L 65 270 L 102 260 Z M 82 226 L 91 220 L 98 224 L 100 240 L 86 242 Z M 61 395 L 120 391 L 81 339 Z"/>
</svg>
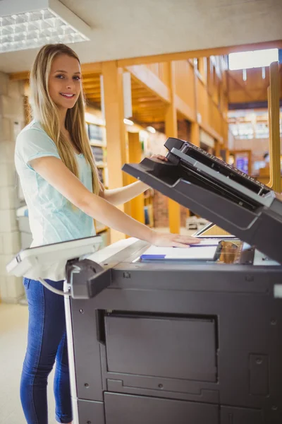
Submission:
<svg viewBox="0 0 282 424">
<path fill-rule="evenodd" d="M 43 156 L 59 158 L 54 141 L 39 122 L 30 122 L 16 140 L 15 164 L 27 203 L 31 247 L 95 235 L 93 218 L 73 206 L 58 190 L 32 169 L 30 161 Z M 91 167 L 84 155 L 76 155 L 79 178 L 92 192 Z"/>
</svg>

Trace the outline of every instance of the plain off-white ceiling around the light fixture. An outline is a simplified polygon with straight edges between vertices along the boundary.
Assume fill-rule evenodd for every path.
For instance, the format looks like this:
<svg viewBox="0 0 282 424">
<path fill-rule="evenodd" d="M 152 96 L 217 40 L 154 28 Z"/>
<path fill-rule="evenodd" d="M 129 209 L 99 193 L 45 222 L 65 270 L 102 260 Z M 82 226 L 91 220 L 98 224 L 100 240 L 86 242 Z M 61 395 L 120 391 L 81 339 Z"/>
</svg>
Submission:
<svg viewBox="0 0 282 424">
<path fill-rule="evenodd" d="M 82 63 L 282 40 L 282 0 L 61 3 L 93 28 L 90 42 L 71 45 Z M 26 71 L 36 53 L 30 49 L 0 54 L 0 71 Z"/>
</svg>

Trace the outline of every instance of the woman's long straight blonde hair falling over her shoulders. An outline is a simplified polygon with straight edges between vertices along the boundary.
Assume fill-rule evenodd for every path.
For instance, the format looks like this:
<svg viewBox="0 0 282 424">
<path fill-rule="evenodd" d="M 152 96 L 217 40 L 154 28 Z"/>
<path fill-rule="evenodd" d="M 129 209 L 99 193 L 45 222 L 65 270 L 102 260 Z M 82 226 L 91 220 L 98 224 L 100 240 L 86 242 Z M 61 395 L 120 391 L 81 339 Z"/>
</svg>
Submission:
<svg viewBox="0 0 282 424">
<path fill-rule="evenodd" d="M 30 104 L 33 117 L 40 122 L 44 131 L 46 131 L 48 136 L 56 144 L 63 163 L 76 177 L 79 177 L 75 152 L 71 148 L 69 141 L 61 133 L 59 111 L 53 100 L 51 100 L 48 89 L 51 64 L 55 57 L 61 54 L 74 57 L 80 63 L 78 55 L 66 45 L 54 44 L 43 46 L 39 50 L 30 71 Z M 102 189 L 102 185 L 99 182 L 97 166 L 94 163 L 90 141 L 86 132 L 85 97 L 83 90 L 81 90 L 75 106 L 72 109 L 68 109 L 66 113 L 66 129 L 72 136 L 75 148 L 84 155 L 85 160 L 90 164 L 93 192 L 94 194 L 98 194 L 99 190 Z"/>
</svg>

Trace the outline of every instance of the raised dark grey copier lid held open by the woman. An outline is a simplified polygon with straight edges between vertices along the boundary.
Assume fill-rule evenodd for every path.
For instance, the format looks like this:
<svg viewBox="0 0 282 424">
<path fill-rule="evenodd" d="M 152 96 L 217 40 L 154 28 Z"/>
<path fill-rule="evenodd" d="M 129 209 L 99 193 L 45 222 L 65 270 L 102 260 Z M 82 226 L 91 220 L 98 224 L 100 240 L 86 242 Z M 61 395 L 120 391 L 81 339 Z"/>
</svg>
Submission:
<svg viewBox="0 0 282 424">
<path fill-rule="evenodd" d="M 192 143 L 167 139 L 168 162 L 145 158 L 123 171 L 282 264 L 282 202 L 264 184 Z"/>
</svg>

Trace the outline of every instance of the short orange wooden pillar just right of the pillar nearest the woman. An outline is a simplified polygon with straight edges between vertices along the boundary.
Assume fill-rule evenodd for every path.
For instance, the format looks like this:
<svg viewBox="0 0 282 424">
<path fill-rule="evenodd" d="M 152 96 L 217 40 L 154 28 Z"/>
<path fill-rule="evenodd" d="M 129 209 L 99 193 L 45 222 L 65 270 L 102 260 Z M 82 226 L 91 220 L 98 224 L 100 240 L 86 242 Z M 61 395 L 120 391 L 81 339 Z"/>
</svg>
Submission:
<svg viewBox="0 0 282 424">
<path fill-rule="evenodd" d="M 129 163 L 140 163 L 142 159 L 142 148 L 138 133 L 128 133 L 128 153 Z M 128 184 L 135 182 L 136 179 L 128 175 Z M 130 201 L 131 216 L 145 224 L 144 216 L 144 194 L 140 194 Z"/>
</svg>

